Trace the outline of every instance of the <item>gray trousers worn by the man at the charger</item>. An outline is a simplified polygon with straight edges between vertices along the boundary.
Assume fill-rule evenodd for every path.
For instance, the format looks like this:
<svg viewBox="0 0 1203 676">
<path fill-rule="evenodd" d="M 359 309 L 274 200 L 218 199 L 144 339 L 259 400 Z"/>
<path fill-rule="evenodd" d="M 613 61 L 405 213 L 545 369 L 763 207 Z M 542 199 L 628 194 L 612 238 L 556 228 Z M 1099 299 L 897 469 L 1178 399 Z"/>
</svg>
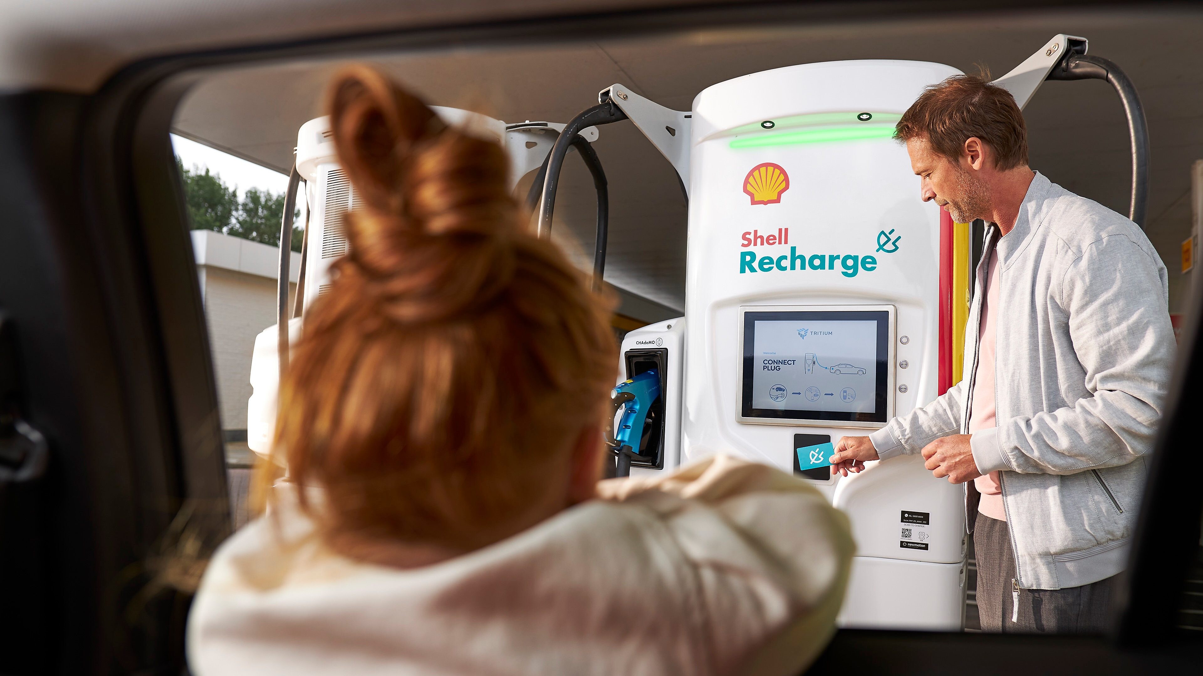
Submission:
<svg viewBox="0 0 1203 676">
<path fill-rule="evenodd" d="M 1066 589 L 1019 589 L 1019 611 L 1014 612 L 1015 555 L 1007 522 L 978 514 L 973 548 L 983 631 L 1101 634 L 1107 630 L 1118 575 Z"/>
</svg>

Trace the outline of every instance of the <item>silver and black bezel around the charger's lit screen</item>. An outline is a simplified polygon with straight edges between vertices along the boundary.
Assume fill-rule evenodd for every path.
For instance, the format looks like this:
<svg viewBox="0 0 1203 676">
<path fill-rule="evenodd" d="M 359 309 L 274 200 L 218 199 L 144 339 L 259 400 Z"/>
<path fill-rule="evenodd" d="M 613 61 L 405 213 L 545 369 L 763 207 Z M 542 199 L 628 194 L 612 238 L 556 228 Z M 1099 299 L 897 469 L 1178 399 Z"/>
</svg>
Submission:
<svg viewBox="0 0 1203 676">
<path fill-rule="evenodd" d="M 894 306 L 774 306 L 740 308 L 740 422 L 823 427 L 883 427 L 894 417 Z M 877 383 L 873 413 L 752 407 L 754 331 L 757 321 L 876 321 Z"/>
</svg>

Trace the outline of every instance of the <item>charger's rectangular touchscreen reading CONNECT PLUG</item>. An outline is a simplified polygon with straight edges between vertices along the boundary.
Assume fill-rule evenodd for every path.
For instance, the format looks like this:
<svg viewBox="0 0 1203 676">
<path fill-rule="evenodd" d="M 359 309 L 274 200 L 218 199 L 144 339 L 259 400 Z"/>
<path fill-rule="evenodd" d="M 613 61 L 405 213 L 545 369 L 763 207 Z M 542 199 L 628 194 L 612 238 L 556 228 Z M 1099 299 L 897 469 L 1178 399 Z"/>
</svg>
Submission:
<svg viewBox="0 0 1203 676">
<path fill-rule="evenodd" d="M 743 415 L 885 422 L 889 313 L 745 313 Z"/>
</svg>

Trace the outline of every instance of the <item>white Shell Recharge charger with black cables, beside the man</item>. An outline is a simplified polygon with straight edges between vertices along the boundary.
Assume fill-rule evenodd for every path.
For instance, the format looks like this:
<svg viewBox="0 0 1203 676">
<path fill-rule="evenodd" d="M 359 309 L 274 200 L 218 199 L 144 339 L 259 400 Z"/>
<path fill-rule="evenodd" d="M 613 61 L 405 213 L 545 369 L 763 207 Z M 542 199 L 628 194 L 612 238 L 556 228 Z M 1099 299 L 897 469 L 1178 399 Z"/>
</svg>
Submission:
<svg viewBox="0 0 1203 676">
<path fill-rule="evenodd" d="M 1059 35 L 996 83 L 1024 106 L 1045 79 L 1112 82 L 1132 134 L 1139 224 L 1139 100 L 1114 64 L 1085 51 L 1085 40 Z M 840 437 L 931 402 L 972 368 L 959 354 L 968 226 L 920 201 L 907 152 L 891 140 L 923 89 L 959 72 L 805 64 L 715 84 L 689 112 L 615 84 L 568 123 L 546 162 L 543 236 L 574 129 L 630 119 L 676 168 L 689 200 L 686 316 L 623 340 L 615 437 L 627 437 L 612 445 L 627 450 L 630 474 L 724 452 L 810 481 L 848 515 L 857 541 L 843 627 L 964 627 L 965 486 L 935 479 L 919 456 L 847 478 L 829 464 Z"/>
</svg>

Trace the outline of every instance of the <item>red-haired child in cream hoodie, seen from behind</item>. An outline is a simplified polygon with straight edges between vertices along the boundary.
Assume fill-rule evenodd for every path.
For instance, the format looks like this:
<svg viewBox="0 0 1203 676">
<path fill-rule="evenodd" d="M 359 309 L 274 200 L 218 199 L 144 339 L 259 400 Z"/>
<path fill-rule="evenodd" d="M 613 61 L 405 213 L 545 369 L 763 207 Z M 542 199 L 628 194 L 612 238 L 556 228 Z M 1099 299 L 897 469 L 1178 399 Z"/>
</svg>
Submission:
<svg viewBox="0 0 1203 676">
<path fill-rule="evenodd" d="M 612 301 L 527 231 L 502 148 L 366 67 L 328 111 L 365 208 L 282 384 L 289 476 L 194 601 L 192 672 L 808 665 L 843 598 L 845 516 L 722 455 L 599 484 Z"/>
</svg>

